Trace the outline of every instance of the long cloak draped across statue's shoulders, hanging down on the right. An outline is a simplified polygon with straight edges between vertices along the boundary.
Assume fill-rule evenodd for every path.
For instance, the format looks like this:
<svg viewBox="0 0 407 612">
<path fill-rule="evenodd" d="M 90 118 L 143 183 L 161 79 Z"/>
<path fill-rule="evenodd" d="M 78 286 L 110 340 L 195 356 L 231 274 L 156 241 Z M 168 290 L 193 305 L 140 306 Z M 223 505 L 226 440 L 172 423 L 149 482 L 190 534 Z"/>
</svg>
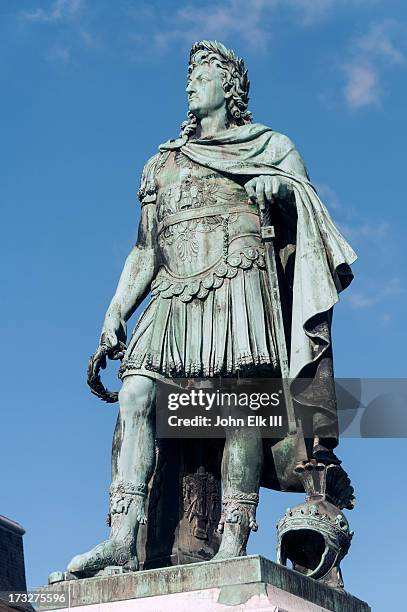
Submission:
<svg viewBox="0 0 407 612">
<path fill-rule="evenodd" d="M 332 423 L 335 410 L 330 322 L 339 293 L 352 281 L 350 265 L 356 254 L 333 223 L 286 136 L 254 123 L 219 132 L 213 138 L 183 137 L 160 147 L 161 151 L 171 149 L 180 149 L 193 162 L 240 181 L 268 175 L 283 177 L 292 186 L 295 227 L 284 224 L 284 211 L 283 215 L 273 215 L 282 301 L 284 298 L 286 302 L 283 310 L 290 319 L 286 322 L 290 379 L 297 404 L 320 408 L 319 416 L 314 411 L 313 431 L 330 437 L 329 421 Z M 291 159 L 296 163 L 290 163 Z M 147 193 L 153 190 L 148 187 Z M 301 385 L 300 378 L 312 384 Z M 330 417 L 328 421 L 324 421 L 324 414 Z"/>
</svg>

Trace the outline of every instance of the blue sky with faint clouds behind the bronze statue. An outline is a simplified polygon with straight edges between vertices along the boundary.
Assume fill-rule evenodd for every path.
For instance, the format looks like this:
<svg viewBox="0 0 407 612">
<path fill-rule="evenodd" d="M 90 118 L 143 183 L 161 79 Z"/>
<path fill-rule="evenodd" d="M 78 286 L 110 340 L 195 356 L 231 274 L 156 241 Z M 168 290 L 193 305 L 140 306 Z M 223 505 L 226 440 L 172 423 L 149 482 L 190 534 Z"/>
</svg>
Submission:
<svg viewBox="0 0 407 612">
<path fill-rule="evenodd" d="M 246 59 L 254 119 L 294 140 L 358 252 L 336 375 L 405 376 L 406 33 L 402 0 L 1 0 L 0 513 L 27 530 L 31 586 L 106 535 L 117 406 L 90 395 L 86 364 L 135 239 L 143 164 L 184 119 L 195 40 Z M 378 611 L 404 600 L 406 448 L 341 444 L 358 496 L 346 587 Z M 264 492 L 251 552 L 274 558 L 292 502 Z"/>
</svg>

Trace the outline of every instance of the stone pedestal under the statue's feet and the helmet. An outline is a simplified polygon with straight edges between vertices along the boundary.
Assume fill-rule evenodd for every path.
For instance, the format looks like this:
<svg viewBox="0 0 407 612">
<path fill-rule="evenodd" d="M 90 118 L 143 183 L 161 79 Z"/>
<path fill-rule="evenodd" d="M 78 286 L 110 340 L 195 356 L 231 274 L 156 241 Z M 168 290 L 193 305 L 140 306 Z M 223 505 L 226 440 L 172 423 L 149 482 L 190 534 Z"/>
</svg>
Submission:
<svg viewBox="0 0 407 612">
<path fill-rule="evenodd" d="M 258 555 L 70 580 L 44 592 L 64 593 L 80 612 L 370 611 L 352 595 Z M 66 604 L 58 608 L 68 611 Z"/>
</svg>

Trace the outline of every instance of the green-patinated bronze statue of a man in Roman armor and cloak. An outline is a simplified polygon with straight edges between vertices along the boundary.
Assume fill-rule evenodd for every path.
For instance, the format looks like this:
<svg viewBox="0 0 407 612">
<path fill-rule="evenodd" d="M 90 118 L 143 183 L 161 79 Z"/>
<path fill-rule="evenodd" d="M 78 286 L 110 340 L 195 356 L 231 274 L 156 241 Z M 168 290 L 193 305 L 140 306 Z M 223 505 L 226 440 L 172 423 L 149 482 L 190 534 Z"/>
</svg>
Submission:
<svg viewBox="0 0 407 612">
<path fill-rule="evenodd" d="M 331 486 L 330 503 L 339 490 L 337 505 L 352 505 L 353 489 L 333 452 L 338 425 L 330 324 L 356 256 L 318 198 L 292 141 L 252 122 L 248 93 L 243 60 L 217 42 L 193 45 L 188 117 L 180 137 L 161 145 L 144 168 L 137 243 L 89 366 L 94 393 L 115 401 L 115 394 L 104 390 L 99 370 L 107 358 L 122 359 L 111 533 L 72 559 L 71 577 L 97 575 L 108 566 L 123 571 L 139 567 L 137 534 L 147 520 L 147 496 L 149 516 L 159 504 L 151 479 L 160 469 L 154 416 L 160 380 L 284 375 L 311 381 L 298 390 L 297 400 L 313 408 L 313 438 L 304 443 L 294 415 L 292 437 L 283 441 L 299 441 L 295 452 L 301 452 L 292 457 L 296 471 L 273 461 L 256 432 L 227 433 L 224 446 L 211 455 L 218 466 L 223 457 L 220 546 L 220 536 L 214 535 L 218 521 L 213 520 L 220 513 L 216 466 L 209 473 L 212 459 L 203 451 L 196 469 L 183 475 L 182 520 L 192 521 L 191 538 L 209 542 L 205 554 L 199 553 L 201 560 L 213 556 L 218 546 L 216 559 L 245 554 L 250 530 L 257 528 L 260 485 L 304 490 L 304 470 L 322 470 L 325 480 L 333 470 L 345 481 L 342 488 Z M 277 303 L 270 281 L 271 234 L 262 232 L 261 223 L 275 228 Z M 150 291 L 151 301 L 126 347 L 127 321 Z M 326 495 L 325 485 L 318 495 Z"/>
</svg>

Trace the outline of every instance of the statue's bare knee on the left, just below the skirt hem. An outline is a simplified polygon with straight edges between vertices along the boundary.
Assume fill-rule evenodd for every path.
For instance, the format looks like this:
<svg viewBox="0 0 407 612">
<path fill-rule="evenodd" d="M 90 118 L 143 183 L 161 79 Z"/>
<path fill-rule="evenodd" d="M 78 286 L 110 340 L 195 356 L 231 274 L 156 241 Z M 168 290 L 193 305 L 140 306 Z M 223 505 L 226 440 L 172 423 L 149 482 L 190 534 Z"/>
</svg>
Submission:
<svg viewBox="0 0 407 612">
<path fill-rule="evenodd" d="M 148 417 L 154 402 L 154 381 L 145 376 L 129 376 L 119 392 L 120 414 L 123 418 Z"/>
</svg>

